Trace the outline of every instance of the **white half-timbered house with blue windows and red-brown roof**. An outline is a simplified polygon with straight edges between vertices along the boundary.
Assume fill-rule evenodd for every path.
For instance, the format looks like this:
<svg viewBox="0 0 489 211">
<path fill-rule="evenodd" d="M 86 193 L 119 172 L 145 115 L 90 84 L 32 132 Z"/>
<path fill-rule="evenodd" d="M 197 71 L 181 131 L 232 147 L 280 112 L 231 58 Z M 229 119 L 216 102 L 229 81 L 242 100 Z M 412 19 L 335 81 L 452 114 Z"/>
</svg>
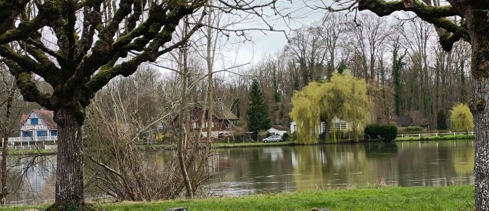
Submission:
<svg viewBox="0 0 489 211">
<path fill-rule="evenodd" d="M 22 114 L 19 123 L 20 137 L 9 138 L 12 149 L 35 148 L 54 144 L 58 140 L 58 125 L 53 120 L 53 111 L 34 109 Z"/>
</svg>

